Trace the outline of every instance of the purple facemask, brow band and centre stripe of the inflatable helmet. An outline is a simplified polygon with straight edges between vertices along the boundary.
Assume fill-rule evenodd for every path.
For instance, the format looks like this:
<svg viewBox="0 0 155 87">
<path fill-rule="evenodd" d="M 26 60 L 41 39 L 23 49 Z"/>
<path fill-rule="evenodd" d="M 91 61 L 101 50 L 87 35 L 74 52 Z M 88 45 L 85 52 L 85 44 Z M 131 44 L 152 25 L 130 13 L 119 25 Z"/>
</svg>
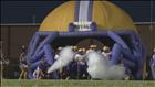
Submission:
<svg viewBox="0 0 155 87">
<path fill-rule="evenodd" d="M 97 31 L 95 22 L 91 20 L 93 1 L 76 2 L 75 22 L 69 24 L 69 32 L 39 31 L 33 35 L 28 47 L 28 64 L 30 66 L 29 78 L 33 78 L 33 70 L 41 65 L 42 58 L 50 66 L 54 63 L 54 52 L 51 45 L 59 37 L 110 37 L 112 45 L 111 65 L 118 64 L 123 59 L 125 68 L 132 72 L 135 79 L 142 79 L 142 70 L 145 62 L 145 48 L 141 37 L 135 31 Z M 84 9 L 82 9 L 84 8 Z M 127 39 L 126 39 L 127 37 Z M 123 55 L 123 57 L 121 57 Z M 49 67 L 46 66 L 46 68 Z M 58 78 L 56 72 L 52 78 Z"/>
</svg>

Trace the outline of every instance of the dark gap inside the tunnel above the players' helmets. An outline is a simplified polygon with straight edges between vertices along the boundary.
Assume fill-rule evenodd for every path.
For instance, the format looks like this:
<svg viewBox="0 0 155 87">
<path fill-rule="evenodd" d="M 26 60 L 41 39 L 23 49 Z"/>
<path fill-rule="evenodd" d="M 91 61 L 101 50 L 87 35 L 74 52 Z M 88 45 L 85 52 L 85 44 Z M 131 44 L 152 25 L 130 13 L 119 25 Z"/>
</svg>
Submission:
<svg viewBox="0 0 155 87">
<path fill-rule="evenodd" d="M 102 48 L 103 44 L 113 46 L 114 41 L 108 36 L 85 36 L 85 37 L 56 37 L 52 43 L 52 47 L 55 50 L 59 46 L 78 45 L 80 47 L 89 47 L 89 45 L 95 44 Z"/>
</svg>

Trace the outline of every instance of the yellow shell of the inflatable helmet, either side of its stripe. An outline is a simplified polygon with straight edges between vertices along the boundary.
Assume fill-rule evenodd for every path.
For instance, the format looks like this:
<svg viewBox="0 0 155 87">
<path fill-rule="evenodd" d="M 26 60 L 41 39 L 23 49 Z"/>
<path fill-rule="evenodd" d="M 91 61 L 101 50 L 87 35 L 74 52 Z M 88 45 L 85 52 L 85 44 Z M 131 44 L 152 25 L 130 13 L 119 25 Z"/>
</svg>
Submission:
<svg viewBox="0 0 155 87">
<path fill-rule="evenodd" d="M 69 31 L 69 24 L 74 22 L 75 1 L 68 1 L 43 20 L 39 31 Z M 132 30 L 136 28 L 132 19 L 122 9 L 110 1 L 93 1 L 92 22 L 95 22 L 99 31 Z"/>
</svg>

